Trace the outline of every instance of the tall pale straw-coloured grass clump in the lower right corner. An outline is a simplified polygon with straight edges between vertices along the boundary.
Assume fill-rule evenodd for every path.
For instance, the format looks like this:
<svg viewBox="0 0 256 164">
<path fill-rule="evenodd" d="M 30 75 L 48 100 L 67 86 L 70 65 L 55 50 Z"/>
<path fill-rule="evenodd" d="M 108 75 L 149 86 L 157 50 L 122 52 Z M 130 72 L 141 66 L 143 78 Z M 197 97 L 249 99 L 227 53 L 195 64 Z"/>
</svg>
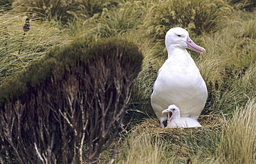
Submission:
<svg viewBox="0 0 256 164">
<path fill-rule="evenodd" d="M 255 163 L 256 161 L 256 103 L 248 101 L 237 107 L 223 126 L 217 156 L 223 163 Z"/>
</svg>

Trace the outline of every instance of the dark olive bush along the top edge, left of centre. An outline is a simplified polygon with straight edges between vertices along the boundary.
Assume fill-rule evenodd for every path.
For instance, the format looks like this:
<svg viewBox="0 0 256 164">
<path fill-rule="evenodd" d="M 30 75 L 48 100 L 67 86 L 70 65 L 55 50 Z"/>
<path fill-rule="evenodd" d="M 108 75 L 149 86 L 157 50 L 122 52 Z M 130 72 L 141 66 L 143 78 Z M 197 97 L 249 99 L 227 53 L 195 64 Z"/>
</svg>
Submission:
<svg viewBox="0 0 256 164">
<path fill-rule="evenodd" d="M 111 5 L 104 0 L 17 0 L 13 6 L 25 8 L 28 17 L 61 21 L 66 24 L 68 20 L 88 19 L 93 14 L 102 12 L 102 8 Z"/>
</svg>

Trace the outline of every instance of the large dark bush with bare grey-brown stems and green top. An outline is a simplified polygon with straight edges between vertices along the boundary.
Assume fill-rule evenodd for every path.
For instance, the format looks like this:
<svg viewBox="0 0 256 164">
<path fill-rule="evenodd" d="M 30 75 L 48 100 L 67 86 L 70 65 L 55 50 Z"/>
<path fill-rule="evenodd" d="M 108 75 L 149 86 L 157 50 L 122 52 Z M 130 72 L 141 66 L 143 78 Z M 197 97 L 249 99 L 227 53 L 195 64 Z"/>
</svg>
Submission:
<svg viewBox="0 0 256 164">
<path fill-rule="evenodd" d="M 95 162 L 118 135 L 142 60 L 128 41 L 83 39 L 51 50 L 5 81 L 0 87 L 1 159 Z"/>
</svg>

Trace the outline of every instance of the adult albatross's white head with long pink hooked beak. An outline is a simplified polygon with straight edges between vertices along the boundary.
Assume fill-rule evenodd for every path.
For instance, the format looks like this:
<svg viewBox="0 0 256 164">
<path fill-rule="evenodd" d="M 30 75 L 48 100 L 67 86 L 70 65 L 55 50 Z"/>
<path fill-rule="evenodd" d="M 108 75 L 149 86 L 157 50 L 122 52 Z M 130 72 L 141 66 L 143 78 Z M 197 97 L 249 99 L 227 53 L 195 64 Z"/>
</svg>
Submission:
<svg viewBox="0 0 256 164">
<path fill-rule="evenodd" d="M 165 45 L 167 49 L 170 46 L 181 49 L 189 48 L 190 50 L 194 50 L 200 54 L 206 54 L 204 48 L 196 45 L 192 39 L 190 39 L 188 31 L 179 27 L 171 28 L 167 31 L 165 35 Z"/>
</svg>

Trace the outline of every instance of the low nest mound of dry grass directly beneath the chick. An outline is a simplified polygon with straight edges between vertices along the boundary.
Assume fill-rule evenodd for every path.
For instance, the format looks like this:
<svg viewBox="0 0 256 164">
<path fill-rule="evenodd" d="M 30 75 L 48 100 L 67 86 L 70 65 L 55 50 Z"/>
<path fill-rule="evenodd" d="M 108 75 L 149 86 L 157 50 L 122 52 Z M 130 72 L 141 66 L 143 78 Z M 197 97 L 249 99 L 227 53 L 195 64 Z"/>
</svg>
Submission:
<svg viewBox="0 0 256 164">
<path fill-rule="evenodd" d="M 219 115 L 199 116 L 198 121 L 202 127 L 161 128 L 158 119 L 145 119 L 145 121 L 134 127 L 133 132 L 136 135 L 147 132 L 147 134 L 160 136 L 162 139 L 167 139 L 167 141 L 174 141 L 176 139 L 184 140 L 189 137 L 194 138 L 196 142 L 200 142 L 203 138 L 208 139 L 215 134 L 219 134 L 224 123 L 224 119 Z"/>
</svg>

